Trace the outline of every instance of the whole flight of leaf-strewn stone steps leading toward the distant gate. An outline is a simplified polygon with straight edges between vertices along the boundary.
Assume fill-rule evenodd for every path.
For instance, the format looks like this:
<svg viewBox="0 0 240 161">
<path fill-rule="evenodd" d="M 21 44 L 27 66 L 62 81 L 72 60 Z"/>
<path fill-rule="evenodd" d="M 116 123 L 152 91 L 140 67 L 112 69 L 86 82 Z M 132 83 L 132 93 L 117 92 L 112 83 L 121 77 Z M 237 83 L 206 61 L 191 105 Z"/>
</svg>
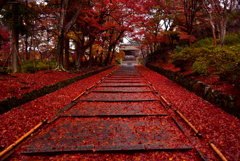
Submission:
<svg viewBox="0 0 240 161">
<path fill-rule="evenodd" d="M 58 116 L 24 154 L 192 149 L 134 66 L 121 66 Z"/>
</svg>

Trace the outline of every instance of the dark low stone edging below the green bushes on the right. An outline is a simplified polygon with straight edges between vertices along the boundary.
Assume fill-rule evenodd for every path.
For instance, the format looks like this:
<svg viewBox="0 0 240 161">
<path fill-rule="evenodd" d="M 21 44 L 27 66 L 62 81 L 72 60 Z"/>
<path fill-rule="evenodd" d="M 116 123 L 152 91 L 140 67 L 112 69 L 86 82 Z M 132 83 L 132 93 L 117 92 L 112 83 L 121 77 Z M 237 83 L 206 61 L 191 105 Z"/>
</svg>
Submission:
<svg viewBox="0 0 240 161">
<path fill-rule="evenodd" d="M 240 118 L 240 107 L 237 105 L 236 98 L 233 95 L 222 94 L 218 90 L 214 90 L 209 85 L 192 77 L 180 74 L 179 72 L 173 72 L 151 64 L 147 64 L 146 67 L 161 75 L 164 75 L 168 79 L 178 83 L 189 91 L 195 92 L 198 96 L 202 97 L 206 101 L 219 105 L 221 109 L 229 114 Z"/>
</svg>

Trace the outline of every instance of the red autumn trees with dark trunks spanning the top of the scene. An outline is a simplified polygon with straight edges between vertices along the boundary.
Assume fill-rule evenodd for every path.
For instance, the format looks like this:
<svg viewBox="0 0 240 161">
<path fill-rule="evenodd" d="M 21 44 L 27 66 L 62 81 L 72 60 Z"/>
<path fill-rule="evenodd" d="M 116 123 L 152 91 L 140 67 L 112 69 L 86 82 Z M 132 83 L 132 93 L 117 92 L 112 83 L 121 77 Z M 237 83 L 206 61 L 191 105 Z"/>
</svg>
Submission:
<svg viewBox="0 0 240 161">
<path fill-rule="evenodd" d="M 237 0 L 0 0 L 0 56 L 13 72 L 29 59 L 54 59 L 60 70 L 71 60 L 81 70 L 111 63 L 126 36 L 148 53 L 191 45 L 201 30 L 215 39 L 219 33 L 223 46 L 238 6 Z"/>
</svg>

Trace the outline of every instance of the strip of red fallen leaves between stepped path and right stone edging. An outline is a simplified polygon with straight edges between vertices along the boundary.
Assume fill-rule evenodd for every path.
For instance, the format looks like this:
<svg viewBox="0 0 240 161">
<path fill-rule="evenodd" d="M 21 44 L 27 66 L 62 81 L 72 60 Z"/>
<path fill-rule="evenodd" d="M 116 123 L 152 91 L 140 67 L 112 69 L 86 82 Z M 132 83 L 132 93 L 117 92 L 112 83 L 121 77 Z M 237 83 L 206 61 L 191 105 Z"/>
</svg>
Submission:
<svg viewBox="0 0 240 161">
<path fill-rule="evenodd" d="M 178 109 L 228 160 L 240 159 L 240 120 L 166 77 L 138 66 L 157 91 Z"/>
</svg>

